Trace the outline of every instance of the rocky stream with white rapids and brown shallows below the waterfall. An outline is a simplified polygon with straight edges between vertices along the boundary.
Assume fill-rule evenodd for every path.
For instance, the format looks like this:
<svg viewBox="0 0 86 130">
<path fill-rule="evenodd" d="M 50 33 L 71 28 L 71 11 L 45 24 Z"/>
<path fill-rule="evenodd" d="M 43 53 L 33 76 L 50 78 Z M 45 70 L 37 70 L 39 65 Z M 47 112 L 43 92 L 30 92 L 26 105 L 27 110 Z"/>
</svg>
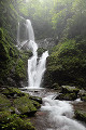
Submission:
<svg viewBox="0 0 86 130">
<path fill-rule="evenodd" d="M 30 117 L 35 130 L 86 130 L 86 126 L 73 119 L 72 101 L 54 100 L 58 94 L 48 89 L 28 89 L 25 91 L 33 96 L 42 98 L 42 106 L 34 117 Z M 81 101 L 76 101 L 78 103 Z"/>
</svg>

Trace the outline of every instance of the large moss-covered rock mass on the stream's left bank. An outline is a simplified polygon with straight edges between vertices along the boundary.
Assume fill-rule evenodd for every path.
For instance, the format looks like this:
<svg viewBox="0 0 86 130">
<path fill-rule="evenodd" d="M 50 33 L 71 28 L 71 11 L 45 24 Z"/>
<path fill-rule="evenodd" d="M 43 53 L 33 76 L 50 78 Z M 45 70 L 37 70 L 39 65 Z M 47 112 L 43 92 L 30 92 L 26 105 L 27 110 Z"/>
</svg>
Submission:
<svg viewBox="0 0 86 130">
<path fill-rule="evenodd" d="M 40 107 L 38 98 L 17 88 L 0 87 L 0 130 L 3 127 L 4 130 L 34 130 L 27 117 L 33 116 Z"/>
</svg>

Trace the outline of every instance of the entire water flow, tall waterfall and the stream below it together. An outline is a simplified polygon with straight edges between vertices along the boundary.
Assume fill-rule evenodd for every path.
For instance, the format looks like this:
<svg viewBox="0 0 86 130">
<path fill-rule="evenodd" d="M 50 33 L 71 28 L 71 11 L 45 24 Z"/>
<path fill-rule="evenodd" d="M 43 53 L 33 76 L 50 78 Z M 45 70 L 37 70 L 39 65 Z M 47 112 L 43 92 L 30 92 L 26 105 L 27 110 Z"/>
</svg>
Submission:
<svg viewBox="0 0 86 130">
<path fill-rule="evenodd" d="M 26 40 L 20 42 L 20 28 L 18 24 L 17 48 L 26 46 L 31 50 L 32 56 L 28 60 L 28 87 L 25 92 L 33 96 L 42 98 L 42 106 L 34 117 L 31 117 L 37 130 L 86 130 L 86 127 L 73 119 L 73 105 L 69 101 L 54 100 L 58 94 L 54 90 L 41 88 L 42 79 L 46 70 L 48 51 L 38 56 L 38 44 L 34 41 L 34 32 L 30 20 L 25 20 Z"/>
</svg>

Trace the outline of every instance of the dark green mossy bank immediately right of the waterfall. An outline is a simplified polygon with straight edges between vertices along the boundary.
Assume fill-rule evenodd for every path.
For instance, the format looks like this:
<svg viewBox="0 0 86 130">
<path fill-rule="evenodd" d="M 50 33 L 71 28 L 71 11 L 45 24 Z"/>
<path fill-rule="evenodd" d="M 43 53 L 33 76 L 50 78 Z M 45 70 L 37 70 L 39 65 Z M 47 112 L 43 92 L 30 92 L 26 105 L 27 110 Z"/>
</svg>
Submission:
<svg viewBox="0 0 86 130">
<path fill-rule="evenodd" d="M 44 86 L 86 86 L 86 42 L 76 43 L 75 40 L 67 40 L 54 48 L 47 57 L 47 69 Z M 82 47 L 82 48 L 80 48 Z"/>
</svg>

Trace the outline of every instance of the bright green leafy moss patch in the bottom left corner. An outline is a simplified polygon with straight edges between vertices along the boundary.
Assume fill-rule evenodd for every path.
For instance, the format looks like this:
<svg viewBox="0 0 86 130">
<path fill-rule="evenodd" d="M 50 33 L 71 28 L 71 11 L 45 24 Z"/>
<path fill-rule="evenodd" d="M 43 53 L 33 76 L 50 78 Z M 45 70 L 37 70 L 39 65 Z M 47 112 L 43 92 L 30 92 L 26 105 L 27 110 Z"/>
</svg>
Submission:
<svg viewBox="0 0 86 130">
<path fill-rule="evenodd" d="M 16 114 L 9 115 L 8 113 L 1 113 L 0 117 L 1 130 L 34 130 L 29 119 L 22 119 Z"/>
</svg>

